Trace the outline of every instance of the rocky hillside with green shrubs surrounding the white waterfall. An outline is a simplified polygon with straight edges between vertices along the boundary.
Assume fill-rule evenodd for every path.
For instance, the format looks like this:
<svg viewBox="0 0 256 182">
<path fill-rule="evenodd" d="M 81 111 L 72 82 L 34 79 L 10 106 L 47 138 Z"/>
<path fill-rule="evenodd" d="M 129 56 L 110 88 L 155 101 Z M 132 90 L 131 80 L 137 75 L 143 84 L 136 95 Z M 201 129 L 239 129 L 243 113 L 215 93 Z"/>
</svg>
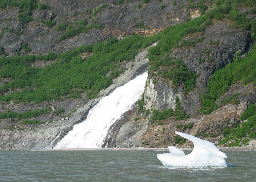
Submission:
<svg viewBox="0 0 256 182">
<path fill-rule="evenodd" d="M 101 96 L 148 63 L 143 98 L 112 126 L 108 147 L 192 146 L 174 131 L 220 146 L 250 146 L 256 138 L 251 1 L 6 2 L 0 12 L 0 149 L 56 144 Z M 106 68 L 86 65 L 106 54 Z M 77 81 L 85 68 L 102 77 Z"/>
</svg>

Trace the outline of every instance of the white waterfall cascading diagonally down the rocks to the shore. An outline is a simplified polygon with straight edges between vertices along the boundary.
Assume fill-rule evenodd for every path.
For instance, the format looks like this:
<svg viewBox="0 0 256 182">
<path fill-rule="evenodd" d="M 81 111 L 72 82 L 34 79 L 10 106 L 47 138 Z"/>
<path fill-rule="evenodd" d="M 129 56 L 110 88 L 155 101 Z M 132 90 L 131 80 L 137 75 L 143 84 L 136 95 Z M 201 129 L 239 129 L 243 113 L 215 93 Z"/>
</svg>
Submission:
<svg viewBox="0 0 256 182">
<path fill-rule="evenodd" d="M 54 148 L 101 148 L 113 123 L 141 97 L 148 73 L 138 75 L 102 98 L 87 119 L 73 127 Z"/>
</svg>

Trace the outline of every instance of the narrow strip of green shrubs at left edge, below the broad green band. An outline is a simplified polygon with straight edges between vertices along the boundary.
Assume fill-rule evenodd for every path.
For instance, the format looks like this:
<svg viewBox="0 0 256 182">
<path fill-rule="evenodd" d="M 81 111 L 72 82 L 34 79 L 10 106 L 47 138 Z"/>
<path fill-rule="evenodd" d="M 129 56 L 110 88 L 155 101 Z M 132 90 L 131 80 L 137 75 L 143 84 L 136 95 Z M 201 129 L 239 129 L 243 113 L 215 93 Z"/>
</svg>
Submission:
<svg viewBox="0 0 256 182">
<path fill-rule="evenodd" d="M 0 119 L 7 119 L 7 118 L 30 118 L 30 117 L 37 117 L 39 115 L 47 114 L 48 111 L 51 111 L 51 107 L 46 107 L 45 109 L 35 109 L 34 111 L 26 111 L 24 113 L 16 113 L 9 111 L 8 113 L 1 113 Z"/>
</svg>

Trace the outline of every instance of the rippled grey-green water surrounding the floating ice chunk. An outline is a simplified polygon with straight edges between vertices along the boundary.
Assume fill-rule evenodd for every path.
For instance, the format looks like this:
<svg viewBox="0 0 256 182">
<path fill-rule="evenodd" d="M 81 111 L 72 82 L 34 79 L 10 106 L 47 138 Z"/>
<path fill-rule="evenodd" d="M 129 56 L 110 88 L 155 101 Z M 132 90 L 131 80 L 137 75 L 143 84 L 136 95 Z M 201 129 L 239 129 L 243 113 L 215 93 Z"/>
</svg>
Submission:
<svg viewBox="0 0 256 182">
<path fill-rule="evenodd" d="M 234 167 L 173 168 L 146 151 L 0 151 L 0 181 L 255 181 L 256 152 L 225 152 Z M 188 152 L 187 152 L 188 153 Z"/>
</svg>

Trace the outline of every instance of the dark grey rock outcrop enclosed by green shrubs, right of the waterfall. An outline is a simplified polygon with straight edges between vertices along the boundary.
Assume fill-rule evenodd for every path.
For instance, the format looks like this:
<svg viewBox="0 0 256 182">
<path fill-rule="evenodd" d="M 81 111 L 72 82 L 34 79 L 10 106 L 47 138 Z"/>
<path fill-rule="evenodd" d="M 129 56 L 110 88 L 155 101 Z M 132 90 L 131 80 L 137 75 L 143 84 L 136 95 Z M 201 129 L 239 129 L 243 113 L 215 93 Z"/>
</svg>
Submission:
<svg viewBox="0 0 256 182">
<path fill-rule="evenodd" d="M 206 86 L 213 73 L 231 63 L 236 51 L 243 54 L 251 45 L 249 34 L 233 30 L 226 20 L 216 21 L 205 28 L 203 36 L 196 33 L 183 39 L 197 38 L 201 38 L 202 42 L 195 43 L 194 47 L 174 49 L 170 54 L 172 57 L 182 58 L 188 69 L 199 75 L 195 83 L 196 88 L 180 100 L 183 110 L 190 115 L 199 112 L 199 96 L 206 92 Z"/>
</svg>

